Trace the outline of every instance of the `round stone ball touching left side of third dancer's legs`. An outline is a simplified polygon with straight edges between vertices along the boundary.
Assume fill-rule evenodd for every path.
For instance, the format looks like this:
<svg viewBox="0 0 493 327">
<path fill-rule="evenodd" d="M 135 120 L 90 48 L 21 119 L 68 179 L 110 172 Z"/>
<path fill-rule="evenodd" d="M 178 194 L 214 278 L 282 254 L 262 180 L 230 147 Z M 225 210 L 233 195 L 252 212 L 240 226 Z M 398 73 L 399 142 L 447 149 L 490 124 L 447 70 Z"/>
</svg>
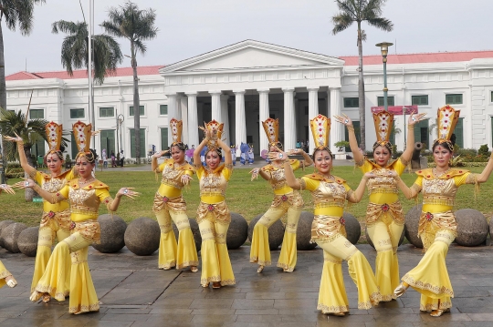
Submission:
<svg viewBox="0 0 493 327">
<path fill-rule="evenodd" d="M 156 220 L 140 217 L 132 220 L 125 230 L 125 245 L 137 255 L 151 255 L 159 249 L 161 230 Z"/>
</svg>

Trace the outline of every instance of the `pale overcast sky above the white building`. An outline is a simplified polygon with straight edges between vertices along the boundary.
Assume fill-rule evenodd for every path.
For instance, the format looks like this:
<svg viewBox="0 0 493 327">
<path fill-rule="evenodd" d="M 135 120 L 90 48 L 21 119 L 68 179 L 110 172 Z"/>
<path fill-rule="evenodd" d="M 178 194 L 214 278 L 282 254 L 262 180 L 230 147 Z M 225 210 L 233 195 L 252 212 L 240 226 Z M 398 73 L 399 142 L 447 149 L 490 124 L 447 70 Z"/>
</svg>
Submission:
<svg viewBox="0 0 493 327">
<path fill-rule="evenodd" d="M 89 22 L 89 0 L 80 0 Z M 338 13 L 333 0 L 134 0 L 140 9 L 156 12 L 158 36 L 147 41 L 147 52 L 138 56 L 139 66 L 170 65 L 223 46 L 254 39 L 326 56 L 357 56 L 356 26 L 333 36 L 331 17 Z M 107 19 L 111 6 L 123 0 L 96 0 L 95 34 Z M 367 40 L 363 55 L 377 55 L 374 46 L 392 42 L 389 54 L 453 52 L 493 49 L 491 0 L 388 0 L 383 17 L 393 22 L 392 32 L 363 23 Z M 5 74 L 18 71 L 63 70 L 60 49 L 64 34 L 51 33 L 58 20 L 82 21 L 79 0 L 47 0 L 37 5 L 33 31 L 21 36 L 2 21 Z M 119 38 L 123 54 L 130 42 Z M 130 66 L 126 58 L 121 66 Z"/>
</svg>

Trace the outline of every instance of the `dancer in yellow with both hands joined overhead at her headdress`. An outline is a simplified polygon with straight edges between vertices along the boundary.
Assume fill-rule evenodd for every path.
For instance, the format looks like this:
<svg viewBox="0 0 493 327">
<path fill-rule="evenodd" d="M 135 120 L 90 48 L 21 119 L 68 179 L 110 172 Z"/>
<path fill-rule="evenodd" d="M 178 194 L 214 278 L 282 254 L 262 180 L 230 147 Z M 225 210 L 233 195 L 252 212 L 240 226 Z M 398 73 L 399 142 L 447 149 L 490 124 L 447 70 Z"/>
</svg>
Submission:
<svg viewBox="0 0 493 327">
<path fill-rule="evenodd" d="M 224 124 L 213 120 L 205 124 L 205 138 L 194 151 L 194 167 L 200 180 L 200 204 L 197 209 L 197 222 L 202 236 L 202 275 L 203 287 L 218 289 L 234 285 L 235 275 L 229 261 L 226 247 L 226 234 L 231 215 L 226 205 L 227 181 L 233 172 L 231 149 L 221 140 Z M 207 145 L 206 166 L 200 162 L 200 151 Z M 221 164 L 224 156 L 225 164 Z"/>
</svg>

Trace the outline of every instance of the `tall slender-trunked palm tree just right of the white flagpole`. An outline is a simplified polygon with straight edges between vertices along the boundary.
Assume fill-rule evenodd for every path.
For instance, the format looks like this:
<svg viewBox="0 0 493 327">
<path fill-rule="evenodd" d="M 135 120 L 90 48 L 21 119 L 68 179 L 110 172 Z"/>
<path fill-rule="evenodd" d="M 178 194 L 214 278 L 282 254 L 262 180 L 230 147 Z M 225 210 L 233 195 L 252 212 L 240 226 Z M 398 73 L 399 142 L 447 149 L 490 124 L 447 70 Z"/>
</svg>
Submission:
<svg viewBox="0 0 493 327">
<path fill-rule="evenodd" d="M 106 33 L 127 38 L 131 42 L 131 67 L 133 68 L 133 129 L 135 135 L 135 158 L 141 163 L 141 115 L 139 101 L 139 77 L 137 77 L 137 52 L 145 54 L 147 47 L 143 43 L 157 36 L 158 28 L 154 26 L 156 13 L 154 9 L 139 10 L 131 2 L 118 8 L 111 7 L 108 21 L 100 26 Z"/>
</svg>

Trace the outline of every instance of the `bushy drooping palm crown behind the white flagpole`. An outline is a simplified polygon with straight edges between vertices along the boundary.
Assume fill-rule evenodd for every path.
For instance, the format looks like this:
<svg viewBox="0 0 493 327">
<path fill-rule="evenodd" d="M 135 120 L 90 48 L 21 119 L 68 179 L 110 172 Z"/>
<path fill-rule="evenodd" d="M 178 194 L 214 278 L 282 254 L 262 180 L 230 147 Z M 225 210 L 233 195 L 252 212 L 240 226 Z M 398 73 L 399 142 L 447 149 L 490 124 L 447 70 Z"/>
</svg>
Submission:
<svg viewBox="0 0 493 327">
<path fill-rule="evenodd" d="M 51 25 L 51 32 L 63 32 L 65 36 L 61 48 L 61 63 L 68 75 L 74 69 L 89 69 L 89 30 L 86 22 L 68 22 L 59 20 Z M 120 45 L 111 36 L 100 34 L 92 36 L 94 79 L 102 84 L 104 77 L 116 72 L 117 65 L 123 60 Z"/>
</svg>

